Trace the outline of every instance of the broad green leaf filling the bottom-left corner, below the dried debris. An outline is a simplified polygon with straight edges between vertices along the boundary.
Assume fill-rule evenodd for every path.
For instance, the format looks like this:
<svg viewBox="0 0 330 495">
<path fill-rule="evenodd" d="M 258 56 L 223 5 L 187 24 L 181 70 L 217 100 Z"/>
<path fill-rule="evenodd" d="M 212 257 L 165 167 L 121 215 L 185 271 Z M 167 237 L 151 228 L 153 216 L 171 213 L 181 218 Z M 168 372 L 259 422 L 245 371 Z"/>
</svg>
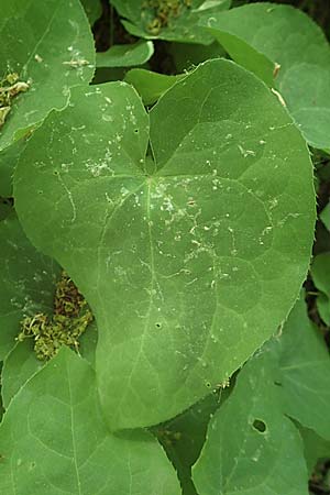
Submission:
<svg viewBox="0 0 330 495">
<path fill-rule="evenodd" d="M 109 435 L 90 365 L 63 348 L 11 402 L 0 427 L 6 495 L 179 495 L 144 431 Z"/>
</svg>

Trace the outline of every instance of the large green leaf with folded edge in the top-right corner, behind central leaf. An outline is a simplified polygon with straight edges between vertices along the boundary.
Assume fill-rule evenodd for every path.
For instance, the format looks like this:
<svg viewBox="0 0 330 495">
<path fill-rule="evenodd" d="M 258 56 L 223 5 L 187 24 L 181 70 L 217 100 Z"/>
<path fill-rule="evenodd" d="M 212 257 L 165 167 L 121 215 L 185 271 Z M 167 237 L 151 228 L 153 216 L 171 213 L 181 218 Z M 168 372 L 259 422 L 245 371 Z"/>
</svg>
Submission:
<svg viewBox="0 0 330 495">
<path fill-rule="evenodd" d="M 253 3 L 200 24 L 235 62 L 275 85 L 309 144 L 329 148 L 330 48 L 308 15 L 289 6 Z"/>
</svg>

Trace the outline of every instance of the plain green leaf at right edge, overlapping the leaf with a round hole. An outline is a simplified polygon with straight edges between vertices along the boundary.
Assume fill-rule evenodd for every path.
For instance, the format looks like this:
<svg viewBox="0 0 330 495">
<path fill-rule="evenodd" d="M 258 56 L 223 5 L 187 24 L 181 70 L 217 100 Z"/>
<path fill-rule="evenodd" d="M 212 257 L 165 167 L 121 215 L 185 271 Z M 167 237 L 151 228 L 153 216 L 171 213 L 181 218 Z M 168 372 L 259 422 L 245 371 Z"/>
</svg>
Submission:
<svg viewBox="0 0 330 495">
<path fill-rule="evenodd" d="M 322 334 L 308 319 L 304 299 L 288 318 L 279 352 L 285 413 L 330 440 L 330 356 Z"/>
</svg>

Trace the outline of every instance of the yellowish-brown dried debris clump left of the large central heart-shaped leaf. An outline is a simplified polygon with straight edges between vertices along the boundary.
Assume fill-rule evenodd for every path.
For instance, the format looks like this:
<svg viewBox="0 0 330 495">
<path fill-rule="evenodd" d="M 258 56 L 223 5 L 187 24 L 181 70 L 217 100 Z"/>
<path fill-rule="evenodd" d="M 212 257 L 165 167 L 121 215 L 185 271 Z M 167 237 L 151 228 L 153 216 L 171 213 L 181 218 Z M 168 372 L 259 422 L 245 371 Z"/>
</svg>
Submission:
<svg viewBox="0 0 330 495">
<path fill-rule="evenodd" d="M 25 317 L 16 340 L 32 338 L 36 358 L 42 361 L 54 358 L 62 345 L 78 352 L 79 338 L 92 319 L 86 299 L 63 272 L 55 292 L 54 315 L 50 317 L 41 312 Z"/>
</svg>

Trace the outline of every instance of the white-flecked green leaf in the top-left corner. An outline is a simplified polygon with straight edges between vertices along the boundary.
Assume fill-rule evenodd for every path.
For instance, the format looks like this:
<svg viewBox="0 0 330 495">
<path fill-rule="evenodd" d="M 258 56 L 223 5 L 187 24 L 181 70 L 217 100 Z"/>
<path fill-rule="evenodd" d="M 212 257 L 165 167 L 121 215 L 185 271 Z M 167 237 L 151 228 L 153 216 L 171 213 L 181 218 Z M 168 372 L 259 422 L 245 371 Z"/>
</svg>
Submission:
<svg viewBox="0 0 330 495">
<path fill-rule="evenodd" d="M 12 100 L 1 129 L 0 150 L 9 146 L 52 109 L 64 108 L 70 88 L 94 74 L 91 32 L 78 0 L 0 0 L 0 66 L 16 73 L 29 89 Z M 6 76 L 6 74 L 0 74 Z"/>
</svg>

